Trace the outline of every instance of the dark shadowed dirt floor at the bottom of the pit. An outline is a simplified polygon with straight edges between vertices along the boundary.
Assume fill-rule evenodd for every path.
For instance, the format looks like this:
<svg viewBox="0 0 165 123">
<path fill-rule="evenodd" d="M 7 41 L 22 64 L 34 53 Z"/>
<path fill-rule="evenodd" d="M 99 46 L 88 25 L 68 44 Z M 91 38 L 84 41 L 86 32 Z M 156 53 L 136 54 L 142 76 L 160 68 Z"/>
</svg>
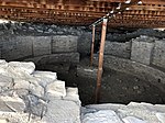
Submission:
<svg viewBox="0 0 165 123">
<path fill-rule="evenodd" d="M 81 59 L 79 65 L 88 64 L 86 58 Z M 62 64 L 59 65 L 63 67 Z M 45 68 L 45 66 L 43 67 Z M 76 67 L 77 65 L 70 65 L 68 72 L 57 72 L 57 78 L 66 81 L 66 87 L 78 87 L 82 105 L 95 103 L 97 80 L 77 76 Z M 38 67 L 40 70 L 42 68 Z M 164 104 L 165 98 L 163 96 L 164 93 L 145 80 L 112 69 L 103 69 L 100 103 L 128 104 L 134 101 Z"/>
</svg>

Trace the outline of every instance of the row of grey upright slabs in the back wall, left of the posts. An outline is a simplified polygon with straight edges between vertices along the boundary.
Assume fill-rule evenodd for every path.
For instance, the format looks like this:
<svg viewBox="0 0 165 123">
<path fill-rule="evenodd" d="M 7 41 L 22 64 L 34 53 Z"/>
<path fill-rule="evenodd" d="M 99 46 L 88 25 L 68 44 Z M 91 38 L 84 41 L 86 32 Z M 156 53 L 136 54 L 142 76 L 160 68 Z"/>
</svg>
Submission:
<svg viewBox="0 0 165 123">
<path fill-rule="evenodd" d="M 77 36 L 13 36 L 1 41 L 1 55 L 7 60 L 24 59 L 58 53 L 77 53 Z"/>
</svg>

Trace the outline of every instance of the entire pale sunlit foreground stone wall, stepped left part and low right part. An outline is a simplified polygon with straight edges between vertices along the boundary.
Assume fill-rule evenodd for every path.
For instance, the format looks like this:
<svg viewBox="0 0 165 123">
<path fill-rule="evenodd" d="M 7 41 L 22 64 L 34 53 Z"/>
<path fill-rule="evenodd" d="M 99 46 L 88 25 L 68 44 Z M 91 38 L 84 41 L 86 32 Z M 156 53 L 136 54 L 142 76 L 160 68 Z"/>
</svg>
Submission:
<svg viewBox="0 0 165 123">
<path fill-rule="evenodd" d="M 0 60 L 0 123 L 165 123 L 165 105 L 81 107 L 78 89 L 32 62 Z"/>
</svg>

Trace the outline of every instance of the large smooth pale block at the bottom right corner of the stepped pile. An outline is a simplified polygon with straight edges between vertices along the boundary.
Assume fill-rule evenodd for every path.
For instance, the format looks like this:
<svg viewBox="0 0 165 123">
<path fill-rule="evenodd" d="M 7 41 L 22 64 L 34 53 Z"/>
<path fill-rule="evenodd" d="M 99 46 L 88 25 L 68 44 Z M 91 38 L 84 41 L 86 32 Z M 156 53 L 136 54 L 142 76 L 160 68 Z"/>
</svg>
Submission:
<svg viewBox="0 0 165 123">
<path fill-rule="evenodd" d="M 73 101 L 52 99 L 43 123 L 80 123 L 80 107 Z"/>
</svg>

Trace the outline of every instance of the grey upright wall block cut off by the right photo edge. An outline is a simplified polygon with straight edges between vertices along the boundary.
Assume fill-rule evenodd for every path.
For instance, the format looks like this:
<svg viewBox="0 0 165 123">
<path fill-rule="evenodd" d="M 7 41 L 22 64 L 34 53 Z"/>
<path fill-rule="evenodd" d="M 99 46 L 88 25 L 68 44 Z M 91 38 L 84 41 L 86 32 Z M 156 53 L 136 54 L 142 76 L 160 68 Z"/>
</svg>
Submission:
<svg viewBox="0 0 165 123">
<path fill-rule="evenodd" d="M 152 64 L 165 68 L 165 40 L 155 41 Z"/>
</svg>

